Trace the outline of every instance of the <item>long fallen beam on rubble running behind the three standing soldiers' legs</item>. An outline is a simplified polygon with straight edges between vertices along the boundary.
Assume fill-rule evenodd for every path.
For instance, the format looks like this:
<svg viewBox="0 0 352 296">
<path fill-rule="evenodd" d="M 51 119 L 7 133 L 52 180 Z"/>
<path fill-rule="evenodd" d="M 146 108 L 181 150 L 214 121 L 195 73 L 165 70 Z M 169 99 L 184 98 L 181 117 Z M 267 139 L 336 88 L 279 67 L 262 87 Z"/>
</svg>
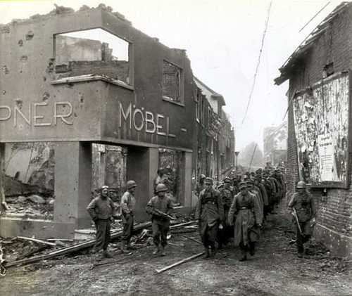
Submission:
<svg viewBox="0 0 352 296">
<path fill-rule="evenodd" d="M 151 222 L 138 224 L 138 225 L 134 226 L 134 231 L 139 231 L 141 229 L 144 229 L 144 228 L 150 227 L 150 226 L 151 226 Z M 112 240 L 115 238 L 119 238 L 120 236 L 122 236 L 122 231 L 117 231 L 115 233 L 111 233 Z M 6 264 L 6 267 L 30 264 L 30 263 L 34 263 L 34 262 L 39 262 L 41 260 L 46 260 L 46 259 L 51 259 L 51 258 L 54 258 L 57 256 L 66 255 L 66 254 L 69 254 L 70 252 L 76 252 L 79 250 L 83 250 L 87 247 L 92 247 L 94 245 L 94 243 L 95 243 L 95 239 L 88 240 L 87 242 L 79 243 L 77 245 L 71 245 L 70 247 L 64 247 L 60 250 L 56 250 L 56 251 L 51 252 L 49 254 L 40 255 L 40 256 L 36 256 L 36 257 L 28 258 L 28 259 L 23 259 L 23 260 L 18 260 L 18 261 L 14 261 L 14 262 L 8 262 Z"/>
</svg>

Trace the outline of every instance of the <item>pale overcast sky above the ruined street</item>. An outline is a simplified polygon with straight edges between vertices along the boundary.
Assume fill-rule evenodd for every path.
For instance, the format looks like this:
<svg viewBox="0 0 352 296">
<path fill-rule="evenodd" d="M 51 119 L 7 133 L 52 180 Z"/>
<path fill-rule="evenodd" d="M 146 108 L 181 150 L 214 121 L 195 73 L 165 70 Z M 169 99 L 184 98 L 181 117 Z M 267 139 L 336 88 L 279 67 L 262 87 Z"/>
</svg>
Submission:
<svg viewBox="0 0 352 296">
<path fill-rule="evenodd" d="M 301 28 L 329 5 L 301 32 Z M 278 68 L 303 39 L 341 1 L 272 1 L 256 86 L 242 124 L 260 51 L 267 0 L 0 1 L 0 22 L 48 13 L 54 3 L 77 10 L 82 5 L 111 6 L 132 25 L 172 48 L 186 49 L 194 75 L 224 96 L 235 127 L 236 150 L 251 141 L 263 147 L 263 128 L 282 123 L 288 83 L 275 86 Z M 287 118 L 286 118 L 287 119 Z M 262 148 L 263 149 L 263 148 Z"/>
</svg>

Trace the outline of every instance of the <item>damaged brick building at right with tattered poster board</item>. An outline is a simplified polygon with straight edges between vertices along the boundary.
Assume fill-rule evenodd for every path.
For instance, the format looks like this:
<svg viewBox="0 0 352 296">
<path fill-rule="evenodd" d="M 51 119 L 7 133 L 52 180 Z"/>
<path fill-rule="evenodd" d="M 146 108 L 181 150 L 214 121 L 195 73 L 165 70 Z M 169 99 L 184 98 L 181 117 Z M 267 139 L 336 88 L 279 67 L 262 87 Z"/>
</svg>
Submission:
<svg viewBox="0 0 352 296">
<path fill-rule="evenodd" d="M 305 180 L 318 204 L 315 238 L 352 256 L 352 4 L 343 2 L 279 69 L 289 79 L 288 196 Z"/>
</svg>

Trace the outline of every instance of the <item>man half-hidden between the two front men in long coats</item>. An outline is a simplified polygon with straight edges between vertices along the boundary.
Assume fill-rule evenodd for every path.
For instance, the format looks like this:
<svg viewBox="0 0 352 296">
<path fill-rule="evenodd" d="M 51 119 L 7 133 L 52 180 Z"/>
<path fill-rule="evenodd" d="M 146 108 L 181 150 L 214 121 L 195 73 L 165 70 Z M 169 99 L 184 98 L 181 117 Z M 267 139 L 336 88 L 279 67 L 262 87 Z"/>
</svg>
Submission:
<svg viewBox="0 0 352 296">
<path fill-rule="evenodd" d="M 231 186 L 231 179 L 230 178 L 225 178 L 224 179 L 224 185 L 222 188 L 218 187 L 218 190 L 220 191 L 220 196 L 222 198 L 222 205 L 224 207 L 224 225 L 222 229 L 219 229 L 218 231 L 218 243 L 219 243 L 219 249 L 222 248 L 222 246 L 227 245 L 229 242 L 230 237 L 233 235 L 232 232 L 232 227 L 228 224 L 227 222 L 227 215 L 229 214 L 229 210 L 232 204 L 232 191 L 230 190 Z"/>
</svg>

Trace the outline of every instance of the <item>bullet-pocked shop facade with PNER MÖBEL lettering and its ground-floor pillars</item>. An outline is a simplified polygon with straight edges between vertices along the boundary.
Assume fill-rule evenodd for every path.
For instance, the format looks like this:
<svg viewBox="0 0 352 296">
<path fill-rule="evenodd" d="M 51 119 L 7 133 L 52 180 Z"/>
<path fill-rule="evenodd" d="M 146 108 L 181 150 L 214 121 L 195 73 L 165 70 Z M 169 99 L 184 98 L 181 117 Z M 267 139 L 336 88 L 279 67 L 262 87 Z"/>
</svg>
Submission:
<svg viewBox="0 0 352 296">
<path fill-rule="evenodd" d="M 111 46 L 106 42 L 89 42 L 101 50 L 101 55 L 84 56 L 80 63 L 70 60 L 72 56 L 58 59 L 56 37 L 94 29 L 127 42 L 127 58 L 122 60 L 128 62 L 128 67 L 122 63 L 121 72 L 111 72 L 109 63 L 115 65 L 118 57 L 111 57 Z M 61 40 L 61 45 L 80 42 L 72 38 L 77 37 L 71 37 L 70 42 Z M 57 212 L 60 222 L 74 218 L 87 224 L 89 220 L 82 210 L 89 200 L 80 200 L 80 195 L 91 181 L 87 168 L 91 167 L 92 157 L 86 157 L 92 155 L 91 143 L 133 146 L 134 155 L 140 149 L 146 157 L 146 165 L 157 157 L 156 150 L 145 149 L 164 147 L 191 153 L 195 102 L 193 75 L 185 51 L 170 49 L 136 30 L 120 13 L 103 6 L 83 6 L 77 12 L 56 8 L 47 15 L 1 25 L 0 65 L 0 142 L 61 142 L 56 146 L 61 161 L 56 168 L 55 185 L 61 188 L 58 200 L 65 203 L 65 195 L 76 194 L 77 205 L 71 207 L 75 209 L 70 213 L 72 217 L 64 214 L 70 205 Z M 170 79 L 174 86 L 164 87 Z M 184 160 L 191 162 L 188 156 Z M 127 178 L 138 178 L 138 170 L 129 172 L 129 164 L 139 166 L 127 160 Z M 154 176 L 156 169 L 152 171 L 146 167 L 146 172 Z M 70 181 L 65 172 L 77 174 L 77 178 Z M 191 177 L 183 179 L 182 194 L 187 200 Z M 143 205 L 153 194 L 151 180 L 141 179 Z M 72 192 L 63 191 L 66 183 L 73 186 Z"/>
</svg>

